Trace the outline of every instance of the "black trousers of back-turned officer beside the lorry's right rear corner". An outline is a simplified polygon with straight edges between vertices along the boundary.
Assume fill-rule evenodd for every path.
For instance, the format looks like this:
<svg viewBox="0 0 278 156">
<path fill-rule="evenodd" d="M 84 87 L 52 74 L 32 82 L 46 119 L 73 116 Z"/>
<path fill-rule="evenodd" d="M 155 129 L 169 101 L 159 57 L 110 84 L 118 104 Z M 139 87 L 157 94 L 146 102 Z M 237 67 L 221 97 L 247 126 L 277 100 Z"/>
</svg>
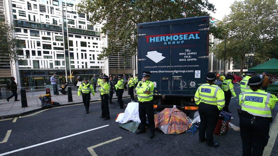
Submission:
<svg viewBox="0 0 278 156">
<path fill-rule="evenodd" d="M 216 105 L 206 103 L 199 104 L 199 140 L 205 140 L 205 133 L 207 132 L 207 144 L 213 143 L 213 133 L 219 117 L 219 109 Z"/>
</svg>

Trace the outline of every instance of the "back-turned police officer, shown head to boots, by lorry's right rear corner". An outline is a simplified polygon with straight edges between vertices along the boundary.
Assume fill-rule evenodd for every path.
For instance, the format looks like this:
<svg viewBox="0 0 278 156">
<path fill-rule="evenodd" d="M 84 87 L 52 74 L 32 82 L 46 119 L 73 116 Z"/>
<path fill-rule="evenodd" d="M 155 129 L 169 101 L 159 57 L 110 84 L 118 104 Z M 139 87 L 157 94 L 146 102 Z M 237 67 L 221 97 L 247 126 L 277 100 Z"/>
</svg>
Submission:
<svg viewBox="0 0 278 156">
<path fill-rule="evenodd" d="M 213 72 L 206 74 L 207 84 L 201 85 L 195 93 L 195 103 L 199 105 L 200 125 L 199 142 L 205 142 L 206 146 L 218 147 L 213 142 L 213 133 L 216 127 L 219 113 L 225 106 L 224 92 L 214 84 L 216 76 Z M 207 131 L 207 138 L 205 132 Z"/>
</svg>

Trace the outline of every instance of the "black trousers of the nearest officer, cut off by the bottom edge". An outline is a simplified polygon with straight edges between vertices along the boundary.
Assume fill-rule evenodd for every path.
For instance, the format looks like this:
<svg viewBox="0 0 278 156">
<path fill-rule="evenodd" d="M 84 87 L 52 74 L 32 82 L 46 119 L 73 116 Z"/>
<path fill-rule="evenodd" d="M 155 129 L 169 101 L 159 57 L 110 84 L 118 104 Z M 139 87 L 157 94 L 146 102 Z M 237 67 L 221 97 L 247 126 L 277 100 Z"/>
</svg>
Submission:
<svg viewBox="0 0 278 156">
<path fill-rule="evenodd" d="M 251 117 L 240 116 L 240 136 L 242 140 L 242 155 L 263 155 L 263 150 L 269 139 L 269 120 L 256 118 L 251 124 Z"/>
</svg>

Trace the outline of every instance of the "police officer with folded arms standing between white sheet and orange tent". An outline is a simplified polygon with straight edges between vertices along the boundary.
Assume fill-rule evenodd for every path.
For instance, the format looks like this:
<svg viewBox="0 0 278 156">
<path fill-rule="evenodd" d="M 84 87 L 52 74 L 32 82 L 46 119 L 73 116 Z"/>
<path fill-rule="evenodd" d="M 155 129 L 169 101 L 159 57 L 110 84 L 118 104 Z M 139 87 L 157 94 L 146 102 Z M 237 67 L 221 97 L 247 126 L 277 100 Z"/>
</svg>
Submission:
<svg viewBox="0 0 278 156">
<path fill-rule="evenodd" d="M 146 114 L 148 116 L 150 135 L 149 138 L 154 138 L 155 124 L 154 124 L 154 103 L 152 102 L 154 83 L 150 81 L 150 72 L 143 72 L 143 78 L 138 82 L 136 93 L 139 101 L 139 118 L 140 130 L 136 134 L 146 133 Z"/>
</svg>

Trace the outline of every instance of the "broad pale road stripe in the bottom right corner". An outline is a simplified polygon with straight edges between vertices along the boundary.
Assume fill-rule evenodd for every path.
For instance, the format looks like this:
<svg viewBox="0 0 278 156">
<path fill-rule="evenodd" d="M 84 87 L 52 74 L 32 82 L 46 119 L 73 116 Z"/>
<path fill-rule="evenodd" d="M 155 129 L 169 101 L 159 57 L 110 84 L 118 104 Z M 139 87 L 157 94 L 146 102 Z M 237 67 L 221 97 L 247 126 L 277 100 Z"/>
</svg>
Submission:
<svg viewBox="0 0 278 156">
<path fill-rule="evenodd" d="M 278 113 L 276 114 L 275 120 L 271 124 L 270 130 L 269 130 L 269 139 L 268 143 L 265 146 L 265 149 L 263 151 L 263 155 L 269 156 L 271 154 L 271 151 L 274 147 L 275 140 L 277 138 L 278 134 Z"/>
</svg>

